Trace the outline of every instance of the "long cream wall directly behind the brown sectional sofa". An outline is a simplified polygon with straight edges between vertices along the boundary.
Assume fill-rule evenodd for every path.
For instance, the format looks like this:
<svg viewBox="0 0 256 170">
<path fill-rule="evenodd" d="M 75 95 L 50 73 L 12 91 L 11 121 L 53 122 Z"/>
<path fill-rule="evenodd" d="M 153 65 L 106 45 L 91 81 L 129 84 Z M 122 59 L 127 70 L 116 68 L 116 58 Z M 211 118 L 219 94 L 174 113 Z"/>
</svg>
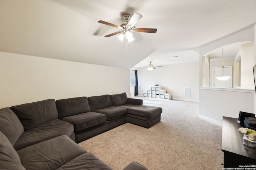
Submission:
<svg viewBox="0 0 256 170">
<path fill-rule="evenodd" d="M 117 94 L 129 96 L 129 70 L 0 52 L 0 108 L 55 100 Z"/>
</svg>

